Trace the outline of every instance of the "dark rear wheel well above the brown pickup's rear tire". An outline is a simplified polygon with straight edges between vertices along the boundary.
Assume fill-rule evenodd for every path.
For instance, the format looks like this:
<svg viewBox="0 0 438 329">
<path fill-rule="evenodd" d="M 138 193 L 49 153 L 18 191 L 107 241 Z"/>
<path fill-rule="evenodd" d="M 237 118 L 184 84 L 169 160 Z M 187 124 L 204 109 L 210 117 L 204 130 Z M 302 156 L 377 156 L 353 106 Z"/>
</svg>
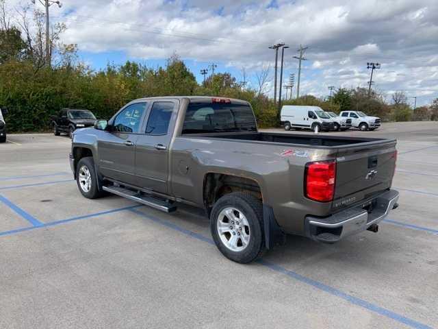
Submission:
<svg viewBox="0 0 438 329">
<path fill-rule="evenodd" d="M 203 198 L 208 215 L 220 197 L 233 192 L 247 192 L 263 201 L 261 188 L 255 180 L 223 173 L 207 173 L 204 178 Z"/>
</svg>

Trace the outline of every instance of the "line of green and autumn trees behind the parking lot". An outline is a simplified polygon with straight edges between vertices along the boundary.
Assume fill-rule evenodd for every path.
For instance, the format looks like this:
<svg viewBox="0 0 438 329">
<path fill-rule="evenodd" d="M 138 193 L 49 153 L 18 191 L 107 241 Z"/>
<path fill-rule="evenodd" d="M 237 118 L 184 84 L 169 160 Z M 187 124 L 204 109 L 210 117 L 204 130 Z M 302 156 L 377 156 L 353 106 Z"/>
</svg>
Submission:
<svg viewBox="0 0 438 329">
<path fill-rule="evenodd" d="M 237 82 L 231 73 L 216 73 L 198 83 L 176 54 L 168 58 L 164 66 L 154 68 L 127 61 L 93 70 L 77 60 L 77 45 L 65 45 L 60 41 L 66 28 L 63 24 L 52 27 L 53 63 L 47 65 L 44 62 L 42 13 L 22 8 L 18 16 L 19 21 L 12 22 L 5 14 L 4 0 L 0 0 L 0 106 L 10 110 L 10 132 L 49 130 L 51 115 L 61 108 L 86 108 L 99 119 L 109 119 L 133 99 L 166 95 L 244 99 L 253 106 L 260 127 L 279 125 L 277 106 L 268 97 L 272 81 L 269 66 L 254 74 L 254 86 Z M 403 93 L 393 95 L 393 101 L 387 103 L 376 91 L 368 96 L 368 90 L 364 88 L 339 88 L 328 99 L 304 95 L 285 100 L 283 104 L 320 106 L 337 113 L 360 110 L 395 121 L 415 119 Z M 438 120 L 438 99 L 430 109 L 426 109 L 426 119 Z"/>
</svg>

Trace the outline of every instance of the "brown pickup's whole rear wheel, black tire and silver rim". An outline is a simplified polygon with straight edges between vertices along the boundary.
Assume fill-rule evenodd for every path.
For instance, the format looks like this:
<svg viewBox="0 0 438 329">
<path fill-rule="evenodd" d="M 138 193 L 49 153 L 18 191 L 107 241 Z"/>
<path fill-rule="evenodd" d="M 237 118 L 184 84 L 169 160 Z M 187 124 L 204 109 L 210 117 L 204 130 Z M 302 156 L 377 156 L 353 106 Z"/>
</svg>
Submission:
<svg viewBox="0 0 438 329">
<path fill-rule="evenodd" d="M 263 206 L 248 193 L 224 195 L 210 215 L 210 230 L 216 247 L 237 262 L 250 263 L 265 251 L 263 236 Z"/>
</svg>

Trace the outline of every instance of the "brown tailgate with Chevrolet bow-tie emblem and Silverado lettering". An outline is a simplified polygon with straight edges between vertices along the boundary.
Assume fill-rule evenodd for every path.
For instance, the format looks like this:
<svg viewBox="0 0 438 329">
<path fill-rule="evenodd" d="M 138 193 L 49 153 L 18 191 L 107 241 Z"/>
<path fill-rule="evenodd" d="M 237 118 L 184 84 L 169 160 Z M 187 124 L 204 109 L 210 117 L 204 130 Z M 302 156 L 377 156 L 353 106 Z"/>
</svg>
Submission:
<svg viewBox="0 0 438 329">
<path fill-rule="evenodd" d="M 339 149 L 333 208 L 359 202 L 391 187 L 396 158 L 396 141 Z"/>
</svg>

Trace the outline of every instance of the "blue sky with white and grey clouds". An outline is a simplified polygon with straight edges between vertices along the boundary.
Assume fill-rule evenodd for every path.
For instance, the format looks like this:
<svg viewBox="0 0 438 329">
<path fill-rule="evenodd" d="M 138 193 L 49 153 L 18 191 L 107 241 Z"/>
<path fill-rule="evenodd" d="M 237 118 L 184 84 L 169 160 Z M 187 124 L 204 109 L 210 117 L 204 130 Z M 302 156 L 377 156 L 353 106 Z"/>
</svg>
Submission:
<svg viewBox="0 0 438 329">
<path fill-rule="evenodd" d="M 255 87 L 263 66 L 271 66 L 273 80 L 268 47 L 285 42 L 283 84 L 298 75 L 300 45 L 308 47 L 300 95 L 368 87 L 367 62 L 378 62 L 373 88 L 388 99 L 398 90 L 417 97 L 417 106 L 438 97 L 437 0 L 62 0 L 50 12 L 68 27 L 62 41 L 76 43 L 94 69 L 126 60 L 155 67 L 177 53 L 198 82 L 200 70 L 215 63 L 216 72 L 238 81 L 245 69 Z"/>
</svg>

